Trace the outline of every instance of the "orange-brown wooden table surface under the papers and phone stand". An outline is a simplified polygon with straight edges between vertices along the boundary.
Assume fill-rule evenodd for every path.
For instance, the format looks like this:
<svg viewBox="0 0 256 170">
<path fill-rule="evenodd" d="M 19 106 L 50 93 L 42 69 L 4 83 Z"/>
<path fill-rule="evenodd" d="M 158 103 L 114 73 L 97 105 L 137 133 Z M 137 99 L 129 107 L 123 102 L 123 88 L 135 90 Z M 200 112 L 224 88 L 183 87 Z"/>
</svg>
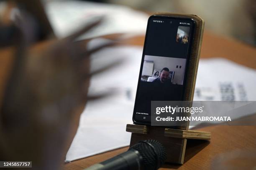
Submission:
<svg viewBox="0 0 256 170">
<path fill-rule="evenodd" d="M 138 36 L 127 40 L 128 44 L 143 45 L 144 37 Z M 243 44 L 237 40 L 212 35 L 205 32 L 202 42 L 201 58 L 224 57 L 241 65 L 256 69 L 256 48 Z M 254 121 L 256 115 L 246 117 L 240 121 Z M 227 126 L 215 125 L 198 130 L 212 133 L 210 143 L 207 141 L 188 140 L 184 165 L 168 164 L 161 170 L 167 169 L 218 169 L 219 165 L 236 167 L 255 167 L 256 162 L 256 126 Z M 124 129 L 125 130 L 125 129 Z M 95 163 L 107 160 L 125 152 L 128 147 L 112 150 L 63 165 L 64 170 L 82 170 Z M 253 153 L 253 157 L 246 156 Z M 231 156 L 230 156 L 231 155 Z M 238 155 L 238 157 L 236 157 Z M 240 155 L 240 156 L 239 156 Z M 246 156 L 243 156 L 246 155 Z M 222 158 L 230 159 L 222 159 Z"/>
</svg>

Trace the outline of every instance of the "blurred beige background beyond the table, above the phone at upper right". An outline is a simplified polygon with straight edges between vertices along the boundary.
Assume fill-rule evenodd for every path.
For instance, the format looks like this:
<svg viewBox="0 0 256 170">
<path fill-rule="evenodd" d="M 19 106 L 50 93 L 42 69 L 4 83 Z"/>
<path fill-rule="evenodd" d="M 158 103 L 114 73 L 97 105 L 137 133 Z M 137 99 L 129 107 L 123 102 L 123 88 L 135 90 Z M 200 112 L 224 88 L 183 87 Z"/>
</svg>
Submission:
<svg viewBox="0 0 256 170">
<path fill-rule="evenodd" d="M 255 0 L 102 0 L 146 12 L 199 15 L 205 28 L 216 34 L 256 45 Z"/>
</svg>

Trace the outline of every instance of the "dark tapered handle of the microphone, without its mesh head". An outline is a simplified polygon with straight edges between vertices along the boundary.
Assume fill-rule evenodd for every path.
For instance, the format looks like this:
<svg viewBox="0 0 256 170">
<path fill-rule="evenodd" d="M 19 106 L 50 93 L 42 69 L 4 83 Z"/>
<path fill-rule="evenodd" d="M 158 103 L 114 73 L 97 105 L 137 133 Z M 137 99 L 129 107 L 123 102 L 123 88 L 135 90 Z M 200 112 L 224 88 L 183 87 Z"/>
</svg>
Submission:
<svg viewBox="0 0 256 170">
<path fill-rule="evenodd" d="M 143 170 L 143 158 L 137 150 L 129 149 L 84 170 Z"/>
</svg>

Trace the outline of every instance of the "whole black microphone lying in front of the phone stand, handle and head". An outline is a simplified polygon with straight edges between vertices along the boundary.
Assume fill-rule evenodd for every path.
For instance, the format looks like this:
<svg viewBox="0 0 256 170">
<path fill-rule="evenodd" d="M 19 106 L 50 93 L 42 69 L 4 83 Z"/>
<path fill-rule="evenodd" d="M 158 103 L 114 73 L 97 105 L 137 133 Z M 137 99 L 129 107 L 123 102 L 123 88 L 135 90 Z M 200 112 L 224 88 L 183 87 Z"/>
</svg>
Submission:
<svg viewBox="0 0 256 170">
<path fill-rule="evenodd" d="M 166 149 L 157 140 L 144 140 L 128 151 L 84 170 L 157 170 L 166 160 Z"/>
</svg>

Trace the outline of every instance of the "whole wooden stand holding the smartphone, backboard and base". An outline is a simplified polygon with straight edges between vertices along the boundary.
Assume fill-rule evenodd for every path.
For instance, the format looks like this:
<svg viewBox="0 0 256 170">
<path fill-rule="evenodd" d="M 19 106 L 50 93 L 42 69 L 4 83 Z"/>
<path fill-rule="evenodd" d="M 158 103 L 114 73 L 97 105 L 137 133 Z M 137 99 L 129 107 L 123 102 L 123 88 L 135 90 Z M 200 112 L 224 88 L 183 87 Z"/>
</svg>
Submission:
<svg viewBox="0 0 256 170">
<path fill-rule="evenodd" d="M 155 15 L 175 17 L 175 18 L 188 18 L 188 19 L 192 19 L 195 22 L 193 42 L 191 45 L 191 54 L 188 62 L 189 65 L 187 70 L 187 80 L 185 82 L 185 91 L 184 91 L 184 101 L 192 101 L 194 97 L 197 68 L 198 68 L 200 50 L 202 45 L 204 20 L 202 20 L 202 18 L 200 18 L 197 15 L 189 15 L 189 14 L 157 13 Z M 167 151 L 166 162 L 178 163 L 178 164 L 184 163 L 187 139 L 195 139 L 198 141 L 198 140 L 210 140 L 211 138 L 211 133 L 209 132 L 188 130 L 189 121 L 187 121 L 184 126 L 175 127 L 175 128 L 176 129 L 170 129 L 170 128 L 164 128 L 159 126 L 128 124 L 126 126 L 126 131 L 132 133 L 130 145 L 134 145 L 141 140 L 147 140 L 147 139 L 158 140 L 166 148 L 166 151 Z M 187 150 L 189 150 L 189 148 L 187 148 Z M 194 150 L 197 150 L 198 152 L 200 148 L 194 147 Z"/>
</svg>

